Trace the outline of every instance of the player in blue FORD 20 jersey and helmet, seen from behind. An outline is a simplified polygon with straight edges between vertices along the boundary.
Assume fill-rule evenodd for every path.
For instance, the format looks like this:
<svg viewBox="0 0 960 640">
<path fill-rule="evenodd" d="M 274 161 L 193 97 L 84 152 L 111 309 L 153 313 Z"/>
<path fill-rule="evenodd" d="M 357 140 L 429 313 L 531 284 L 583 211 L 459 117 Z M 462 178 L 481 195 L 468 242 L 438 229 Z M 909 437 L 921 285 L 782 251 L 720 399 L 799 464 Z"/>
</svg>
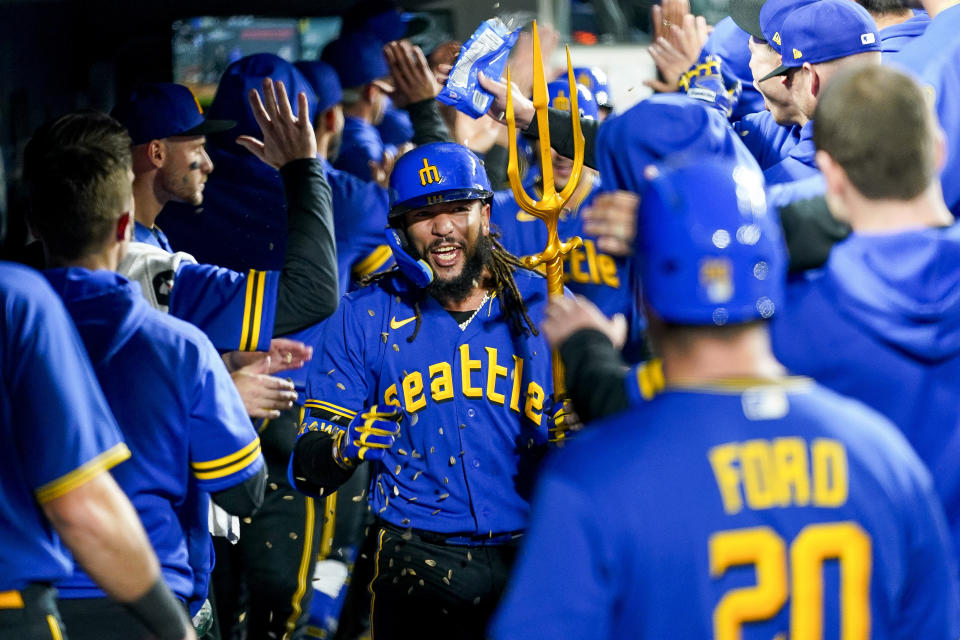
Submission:
<svg viewBox="0 0 960 640">
<path fill-rule="evenodd" d="M 773 357 L 785 256 L 760 174 L 661 168 L 641 206 L 667 389 L 550 461 L 492 637 L 956 637 L 929 473 Z"/>
</svg>

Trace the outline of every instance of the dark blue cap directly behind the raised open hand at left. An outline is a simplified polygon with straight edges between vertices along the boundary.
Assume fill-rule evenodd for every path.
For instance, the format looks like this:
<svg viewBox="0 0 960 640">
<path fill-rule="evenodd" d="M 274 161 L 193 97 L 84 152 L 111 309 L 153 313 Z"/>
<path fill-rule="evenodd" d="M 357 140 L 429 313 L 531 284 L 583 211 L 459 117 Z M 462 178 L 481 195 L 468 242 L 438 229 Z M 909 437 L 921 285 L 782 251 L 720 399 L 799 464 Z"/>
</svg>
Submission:
<svg viewBox="0 0 960 640">
<path fill-rule="evenodd" d="M 300 107 L 297 94 L 301 91 L 307 94 L 307 106 L 310 109 L 311 117 L 316 113 L 314 105 L 317 98 L 313 93 L 313 87 L 292 63 L 272 53 L 255 53 L 252 56 L 244 56 L 231 63 L 224 70 L 223 75 L 220 76 L 220 84 L 217 85 L 217 93 L 210 105 L 211 116 L 230 118 L 237 123 L 236 129 L 231 132 L 229 141 L 215 140 L 217 144 L 231 147 L 232 144 L 226 143 L 232 143 L 237 136 L 259 138 L 262 135 L 260 125 L 253 117 L 253 110 L 250 108 L 247 94 L 250 89 L 259 91 L 264 78 L 283 83 L 294 115 L 298 115 L 297 112 Z"/>
</svg>

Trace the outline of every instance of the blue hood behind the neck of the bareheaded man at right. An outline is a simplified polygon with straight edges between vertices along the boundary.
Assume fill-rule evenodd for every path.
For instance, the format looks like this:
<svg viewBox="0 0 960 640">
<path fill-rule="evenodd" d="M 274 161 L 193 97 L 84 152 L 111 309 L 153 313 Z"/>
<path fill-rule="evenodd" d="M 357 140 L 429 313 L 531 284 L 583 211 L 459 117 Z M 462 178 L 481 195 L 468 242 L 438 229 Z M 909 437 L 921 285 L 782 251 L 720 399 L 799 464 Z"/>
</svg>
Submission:
<svg viewBox="0 0 960 640">
<path fill-rule="evenodd" d="M 843 313 L 880 340 L 928 362 L 960 352 L 960 225 L 852 234 L 824 277 Z"/>
</svg>

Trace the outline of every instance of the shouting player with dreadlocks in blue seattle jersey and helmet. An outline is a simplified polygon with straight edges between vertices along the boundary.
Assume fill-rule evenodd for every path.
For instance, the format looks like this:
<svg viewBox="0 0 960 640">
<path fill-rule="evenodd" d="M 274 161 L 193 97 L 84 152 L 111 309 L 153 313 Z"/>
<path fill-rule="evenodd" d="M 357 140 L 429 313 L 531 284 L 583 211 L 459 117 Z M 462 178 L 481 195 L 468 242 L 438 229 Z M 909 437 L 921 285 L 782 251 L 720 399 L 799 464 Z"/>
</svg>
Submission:
<svg viewBox="0 0 960 640">
<path fill-rule="evenodd" d="M 491 235 L 490 183 L 467 148 L 421 146 L 390 183 L 398 268 L 330 319 L 291 481 L 319 496 L 373 464 L 377 640 L 482 638 L 553 425 L 535 328 L 546 282 Z"/>
</svg>

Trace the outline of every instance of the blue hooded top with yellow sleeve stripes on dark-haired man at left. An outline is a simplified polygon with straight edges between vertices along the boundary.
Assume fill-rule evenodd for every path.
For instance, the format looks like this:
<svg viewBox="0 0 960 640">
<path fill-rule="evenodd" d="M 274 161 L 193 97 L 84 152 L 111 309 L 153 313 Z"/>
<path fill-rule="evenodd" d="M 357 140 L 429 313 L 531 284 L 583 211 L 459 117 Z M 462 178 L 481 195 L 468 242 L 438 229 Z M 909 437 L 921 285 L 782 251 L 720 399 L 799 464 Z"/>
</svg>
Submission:
<svg viewBox="0 0 960 640">
<path fill-rule="evenodd" d="M 263 466 L 260 441 L 213 345 L 196 327 L 151 308 L 140 287 L 110 271 L 45 273 L 70 312 L 133 456 L 113 475 L 185 602 L 212 569 L 209 492 Z M 188 536 L 202 531 L 202 546 Z M 105 594 L 81 570 L 61 598 Z M 202 602 L 203 598 L 200 598 Z"/>
</svg>

